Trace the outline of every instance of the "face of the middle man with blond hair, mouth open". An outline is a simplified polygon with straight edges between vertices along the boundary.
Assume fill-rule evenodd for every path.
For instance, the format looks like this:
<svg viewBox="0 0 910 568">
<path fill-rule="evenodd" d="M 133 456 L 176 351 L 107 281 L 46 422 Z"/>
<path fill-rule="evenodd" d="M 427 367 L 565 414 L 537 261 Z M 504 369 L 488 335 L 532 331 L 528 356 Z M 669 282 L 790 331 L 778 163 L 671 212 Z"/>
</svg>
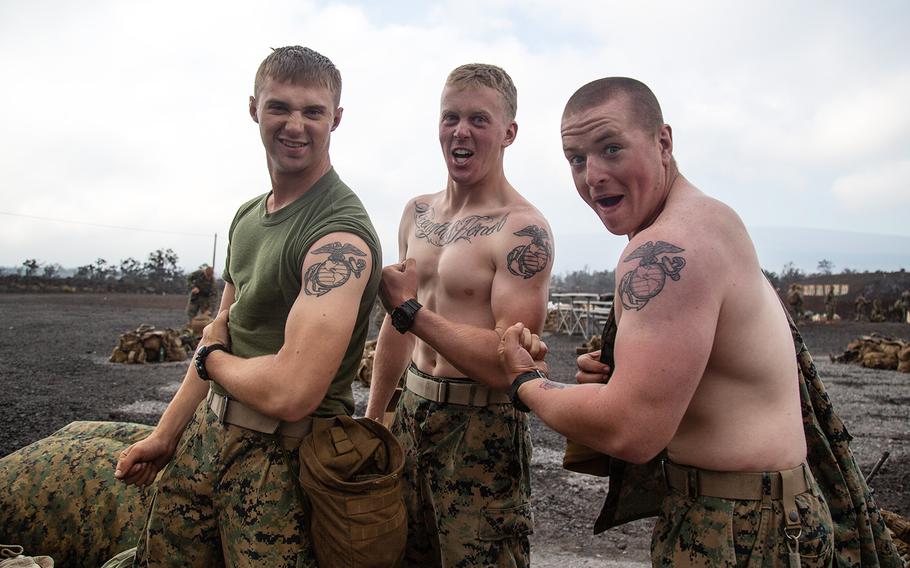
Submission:
<svg viewBox="0 0 910 568">
<path fill-rule="evenodd" d="M 474 185 L 501 175 L 503 150 L 515 140 L 518 125 L 507 121 L 496 90 L 447 86 L 439 115 L 439 144 L 454 182 Z"/>
</svg>

